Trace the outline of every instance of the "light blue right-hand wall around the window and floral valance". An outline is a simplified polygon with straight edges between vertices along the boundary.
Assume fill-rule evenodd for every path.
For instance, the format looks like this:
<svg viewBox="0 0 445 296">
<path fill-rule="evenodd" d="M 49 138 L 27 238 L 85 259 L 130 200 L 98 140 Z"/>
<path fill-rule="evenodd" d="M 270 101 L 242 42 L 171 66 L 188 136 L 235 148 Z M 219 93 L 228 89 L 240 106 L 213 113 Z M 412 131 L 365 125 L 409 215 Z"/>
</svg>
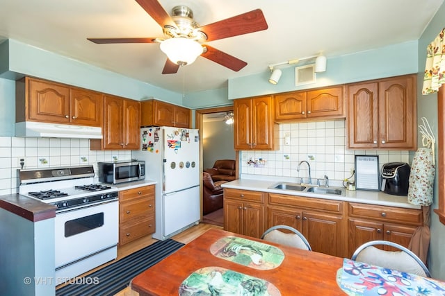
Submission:
<svg viewBox="0 0 445 296">
<path fill-rule="evenodd" d="M 439 32 L 445 28 L 445 4 L 439 8 L 435 17 L 432 19 L 425 32 L 423 32 L 421 38 L 419 39 L 419 76 L 417 85 L 417 115 L 418 118 L 425 116 L 431 125 L 431 128 L 435 134 L 436 143 L 439 137 L 444 137 L 443 134 L 437 134 L 437 94 L 430 94 L 427 96 L 422 95 L 422 85 L 423 85 L 423 71 L 425 69 L 426 63 L 426 46 L 435 39 Z M 440 112 L 443 112 L 441 110 Z M 421 147 L 421 137 L 418 137 L 418 146 Z M 437 147 L 437 144 L 436 144 Z M 436 150 L 436 159 L 437 150 Z M 434 203 L 432 204 L 432 209 L 437 209 L 439 207 L 438 189 L 437 189 L 437 173 L 435 177 L 435 189 L 434 189 Z M 439 218 L 436 214 L 431 214 L 431 240 L 430 240 L 430 254 L 428 261 L 428 268 L 432 273 L 432 277 L 445 280 L 445 225 L 440 223 Z"/>
</svg>

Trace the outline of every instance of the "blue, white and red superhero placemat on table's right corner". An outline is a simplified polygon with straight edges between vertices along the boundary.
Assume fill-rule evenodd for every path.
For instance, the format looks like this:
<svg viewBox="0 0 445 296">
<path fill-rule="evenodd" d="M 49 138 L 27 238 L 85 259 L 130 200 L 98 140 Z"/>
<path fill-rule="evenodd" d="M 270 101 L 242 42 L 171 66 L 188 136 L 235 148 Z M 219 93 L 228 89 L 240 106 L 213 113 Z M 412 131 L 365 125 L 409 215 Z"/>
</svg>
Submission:
<svg viewBox="0 0 445 296">
<path fill-rule="evenodd" d="M 445 295 L 445 282 L 350 259 L 343 259 L 337 284 L 350 296 Z"/>
</svg>

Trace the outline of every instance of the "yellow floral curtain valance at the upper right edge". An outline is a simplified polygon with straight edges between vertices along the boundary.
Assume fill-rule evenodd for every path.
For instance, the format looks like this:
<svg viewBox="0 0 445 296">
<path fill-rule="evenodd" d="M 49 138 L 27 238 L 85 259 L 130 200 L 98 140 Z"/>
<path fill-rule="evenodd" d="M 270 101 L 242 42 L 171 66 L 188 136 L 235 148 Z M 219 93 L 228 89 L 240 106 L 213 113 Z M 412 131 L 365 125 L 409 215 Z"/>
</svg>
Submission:
<svg viewBox="0 0 445 296">
<path fill-rule="evenodd" d="M 433 94 L 445 83 L 445 28 L 426 48 L 422 94 Z"/>
</svg>

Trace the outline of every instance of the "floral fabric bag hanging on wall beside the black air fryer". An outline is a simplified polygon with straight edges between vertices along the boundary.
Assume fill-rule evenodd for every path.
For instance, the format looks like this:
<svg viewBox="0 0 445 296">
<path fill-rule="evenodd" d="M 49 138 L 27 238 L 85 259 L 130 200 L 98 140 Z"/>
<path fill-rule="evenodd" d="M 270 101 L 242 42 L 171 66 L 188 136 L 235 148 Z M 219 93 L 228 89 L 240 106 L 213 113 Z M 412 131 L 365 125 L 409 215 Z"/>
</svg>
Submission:
<svg viewBox="0 0 445 296">
<path fill-rule="evenodd" d="M 412 159 L 408 186 L 408 202 L 421 206 L 432 204 L 435 177 L 435 137 L 425 117 L 419 125 L 423 148 L 417 149 Z"/>
</svg>

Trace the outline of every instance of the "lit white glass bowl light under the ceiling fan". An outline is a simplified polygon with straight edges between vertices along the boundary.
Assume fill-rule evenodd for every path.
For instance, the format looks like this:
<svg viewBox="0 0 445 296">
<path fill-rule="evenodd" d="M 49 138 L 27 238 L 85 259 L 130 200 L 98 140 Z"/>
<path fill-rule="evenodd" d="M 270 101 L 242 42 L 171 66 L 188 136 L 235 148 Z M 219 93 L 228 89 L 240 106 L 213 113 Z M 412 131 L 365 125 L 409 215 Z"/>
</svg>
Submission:
<svg viewBox="0 0 445 296">
<path fill-rule="evenodd" d="M 160 47 L 171 62 L 180 66 L 192 64 L 203 51 L 201 44 L 184 37 L 164 40 Z"/>
</svg>

